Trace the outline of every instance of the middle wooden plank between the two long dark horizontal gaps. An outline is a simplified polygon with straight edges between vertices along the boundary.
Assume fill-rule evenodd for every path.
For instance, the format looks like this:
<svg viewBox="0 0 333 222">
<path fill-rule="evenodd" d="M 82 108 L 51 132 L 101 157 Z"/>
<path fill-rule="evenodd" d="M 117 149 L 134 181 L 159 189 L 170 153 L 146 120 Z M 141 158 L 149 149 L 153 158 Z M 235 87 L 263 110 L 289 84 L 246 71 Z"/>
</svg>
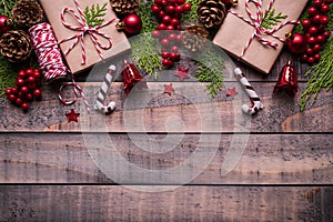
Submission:
<svg viewBox="0 0 333 222">
<path fill-rule="evenodd" d="M 82 134 L 77 133 L 9 133 L 1 134 L 0 142 L 0 183 L 114 183 L 114 174 L 105 171 L 113 167 L 111 145 L 100 143 L 90 147 L 84 143 Z M 91 134 L 102 141 L 105 135 Z M 189 184 L 331 184 L 333 183 L 333 150 L 331 134 L 226 134 L 213 135 L 220 145 L 199 147 L 202 135 L 185 134 L 172 144 L 172 140 L 163 140 L 165 135 L 151 134 L 148 138 L 153 142 L 149 149 L 159 151 L 161 147 L 174 147 L 161 153 L 148 151 L 140 147 L 147 142 L 144 134 L 131 138 L 127 134 L 111 134 L 111 142 L 124 161 L 142 169 L 158 170 L 161 175 L 170 168 L 184 164 L 193 155 L 193 151 L 205 157 L 213 152 L 213 159 L 208 165 L 201 167 L 193 162 L 191 168 L 199 175 L 189 181 Z M 88 138 L 89 139 L 89 138 Z M 222 163 L 230 161 L 229 152 L 234 149 L 233 140 L 246 140 L 243 153 L 235 167 L 225 175 L 221 175 Z M 173 139 L 174 141 L 176 139 Z M 107 139 L 109 141 L 109 139 Z M 141 142 L 141 143 L 140 143 Z M 109 143 L 108 143 L 109 144 Z M 144 144 L 144 143 L 143 143 Z M 94 154 L 94 150 L 109 158 L 110 163 L 103 165 Z M 203 161 L 204 159 L 202 159 Z M 97 164 L 95 164 L 97 163 Z M 102 167 L 101 170 L 99 167 Z M 134 171 L 117 165 L 118 183 L 128 184 L 181 184 L 181 174 L 174 174 L 172 182 L 155 181 L 149 174 L 135 175 Z M 107 175 L 103 174 L 107 172 Z M 185 171 L 188 172 L 188 171 Z M 189 172 L 190 174 L 191 172 Z M 132 176 L 130 176 L 133 174 Z M 130 179 L 128 179 L 130 176 Z M 112 181 L 113 180 L 113 181 Z"/>
</svg>

